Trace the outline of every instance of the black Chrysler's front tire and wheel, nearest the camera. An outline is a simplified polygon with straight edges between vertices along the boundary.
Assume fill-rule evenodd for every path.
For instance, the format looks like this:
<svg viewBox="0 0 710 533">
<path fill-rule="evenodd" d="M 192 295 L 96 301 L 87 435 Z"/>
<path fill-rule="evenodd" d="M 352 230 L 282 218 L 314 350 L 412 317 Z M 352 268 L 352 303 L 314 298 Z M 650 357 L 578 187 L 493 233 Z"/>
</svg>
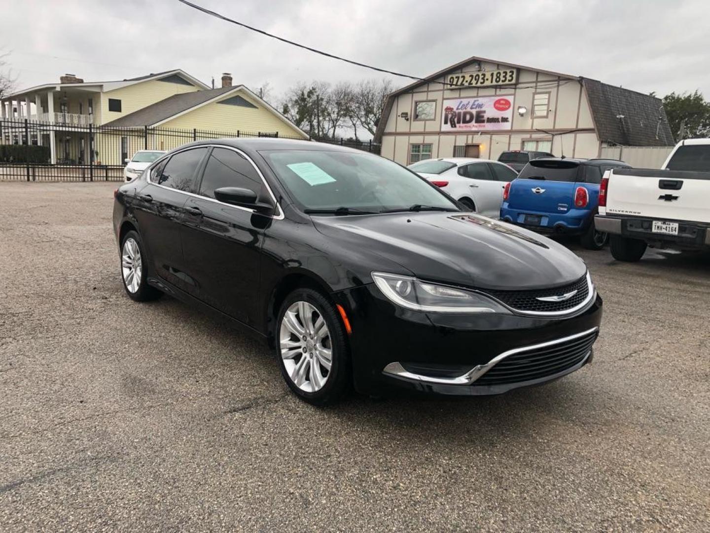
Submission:
<svg viewBox="0 0 710 533">
<path fill-rule="evenodd" d="M 288 387 L 305 402 L 337 402 L 350 384 L 345 329 L 335 306 L 320 292 L 296 289 L 276 321 L 276 356 Z"/>
</svg>

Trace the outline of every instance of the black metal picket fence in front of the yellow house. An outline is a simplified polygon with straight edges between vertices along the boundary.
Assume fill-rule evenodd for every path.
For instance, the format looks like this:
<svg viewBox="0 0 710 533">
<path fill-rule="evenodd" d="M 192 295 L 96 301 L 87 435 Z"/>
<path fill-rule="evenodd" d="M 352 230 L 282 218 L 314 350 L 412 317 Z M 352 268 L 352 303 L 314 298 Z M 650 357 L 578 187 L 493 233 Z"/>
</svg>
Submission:
<svg viewBox="0 0 710 533">
<path fill-rule="evenodd" d="M 126 159 L 138 150 L 170 151 L 192 141 L 229 137 L 302 139 L 276 131 L 116 128 L 0 119 L 0 181 L 122 181 Z M 310 140 L 380 153 L 380 144 L 372 141 Z M 27 148 L 3 150 L 13 145 Z"/>
</svg>

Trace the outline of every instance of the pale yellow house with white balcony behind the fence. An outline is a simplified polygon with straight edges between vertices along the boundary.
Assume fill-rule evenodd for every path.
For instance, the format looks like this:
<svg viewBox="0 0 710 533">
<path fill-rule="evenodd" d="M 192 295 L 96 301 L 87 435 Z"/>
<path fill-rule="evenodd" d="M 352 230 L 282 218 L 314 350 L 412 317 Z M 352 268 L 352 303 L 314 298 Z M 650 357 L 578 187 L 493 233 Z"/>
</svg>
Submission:
<svg viewBox="0 0 710 533">
<path fill-rule="evenodd" d="M 0 101 L 0 119 L 23 123 L 5 128 L 0 142 L 49 146 L 52 163 L 122 164 L 139 149 L 169 150 L 214 136 L 308 135 L 244 85 L 207 85 L 182 70 L 168 70 L 127 80 L 84 82 L 75 75 L 16 92 Z M 194 132 L 194 133 L 193 133 Z M 26 134 L 25 134 L 26 135 Z M 89 149 L 89 146 L 92 148 Z"/>
</svg>

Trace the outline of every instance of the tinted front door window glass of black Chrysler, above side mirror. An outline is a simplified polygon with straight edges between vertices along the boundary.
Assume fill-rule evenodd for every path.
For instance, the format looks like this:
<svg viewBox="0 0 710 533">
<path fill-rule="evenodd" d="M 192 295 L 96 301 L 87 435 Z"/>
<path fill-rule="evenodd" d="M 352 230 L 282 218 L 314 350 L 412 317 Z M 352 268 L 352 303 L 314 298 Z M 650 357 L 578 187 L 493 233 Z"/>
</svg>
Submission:
<svg viewBox="0 0 710 533">
<path fill-rule="evenodd" d="M 220 187 L 241 187 L 253 190 L 261 197 L 263 182 L 247 158 L 234 150 L 215 148 L 204 168 L 200 194 L 214 198 Z"/>
</svg>

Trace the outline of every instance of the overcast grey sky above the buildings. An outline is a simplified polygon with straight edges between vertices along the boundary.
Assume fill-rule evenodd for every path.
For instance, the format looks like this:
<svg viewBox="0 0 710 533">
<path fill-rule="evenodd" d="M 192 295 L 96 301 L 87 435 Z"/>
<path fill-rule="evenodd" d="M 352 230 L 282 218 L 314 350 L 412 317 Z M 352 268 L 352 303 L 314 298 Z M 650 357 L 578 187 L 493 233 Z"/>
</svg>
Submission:
<svg viewBox="0 0 710 533">
<path fill-rule="evenodd" d="M 710 2 L 593 0 L 192 0 L 361 63 L 425 76 L 471 55 L 642 92 L 710 97 Z M 0 49 L 17 88 L 182 68 L 272 97 L 295 82 L 377 72 L 294 48 L 177 0 L 0 0 Z M 395 78 L 395 86 L 409 80 Z"/>
</svg>

